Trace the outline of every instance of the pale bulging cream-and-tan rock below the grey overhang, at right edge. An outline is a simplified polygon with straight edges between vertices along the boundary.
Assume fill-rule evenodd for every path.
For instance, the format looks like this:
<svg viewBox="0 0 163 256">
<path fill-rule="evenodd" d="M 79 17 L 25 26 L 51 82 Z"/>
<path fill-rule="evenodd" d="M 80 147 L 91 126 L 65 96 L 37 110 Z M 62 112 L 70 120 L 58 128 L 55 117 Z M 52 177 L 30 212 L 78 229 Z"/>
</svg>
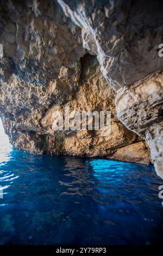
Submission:
<svg viewBox="0 0 163 256">
<path fill-rule="evenodd" d="M 130 130 L 146 138 L 158 175 L 163 173 L 163 71 L 142 83 L 118 90 L 117 117 Z"/>
</svg>

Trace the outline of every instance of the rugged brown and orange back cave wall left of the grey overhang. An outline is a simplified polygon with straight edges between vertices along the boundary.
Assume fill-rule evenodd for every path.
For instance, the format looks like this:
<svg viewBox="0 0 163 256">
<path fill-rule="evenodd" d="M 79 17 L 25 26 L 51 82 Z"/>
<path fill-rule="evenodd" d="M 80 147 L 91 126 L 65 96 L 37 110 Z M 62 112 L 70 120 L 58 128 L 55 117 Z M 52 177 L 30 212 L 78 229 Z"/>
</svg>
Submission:
<svg viewBox="0 0 163 256">
<path fill-rule="evenodd" d="M 75 26 L 57 4 L 5 1 L 0 43 L 0 113 L 15 148 L 149 163 L 143 138 L 116 118 L 115 92 L 100 71 L 92 34 Z M 55 131 L 53 113 L 65 107 L 111 111 L 110 135 L 103 137 L 101 130 Z"/>
</svg>

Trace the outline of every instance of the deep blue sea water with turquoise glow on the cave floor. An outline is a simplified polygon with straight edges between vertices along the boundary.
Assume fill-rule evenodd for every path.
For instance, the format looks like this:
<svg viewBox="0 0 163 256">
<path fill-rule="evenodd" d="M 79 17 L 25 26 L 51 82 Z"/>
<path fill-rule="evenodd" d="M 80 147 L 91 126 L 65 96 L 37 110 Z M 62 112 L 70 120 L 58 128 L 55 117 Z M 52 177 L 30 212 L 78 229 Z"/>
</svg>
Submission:
<svg viewBox="0 0 163 256">
<path fill-rule="evenodd" d="M 153 166 L 26 154 L 0 130 L 1 245 L 161 243 Z"/>
</svg>

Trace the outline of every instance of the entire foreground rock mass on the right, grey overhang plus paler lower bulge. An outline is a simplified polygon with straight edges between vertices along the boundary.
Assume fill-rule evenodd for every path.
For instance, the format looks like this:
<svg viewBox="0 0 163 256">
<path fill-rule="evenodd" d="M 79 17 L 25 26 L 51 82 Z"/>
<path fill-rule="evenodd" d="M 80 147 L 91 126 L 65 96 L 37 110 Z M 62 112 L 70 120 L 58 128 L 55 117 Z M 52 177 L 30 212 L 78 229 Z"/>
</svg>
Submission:
<svg viewBox="0 0 163 256">
<path fill-rule="evenodd" d="M 163 38 L 163 2 L 58 0 L 58 3 L 82 28 L 84 47 L 97 54 L 103 75 L 117 92 L 118 119 L 146 138 L 156 172 L 163 178 L 163 57 L 158 54 Z M 155 74 L 156 71 L 159 73 Z"/>
</svg>

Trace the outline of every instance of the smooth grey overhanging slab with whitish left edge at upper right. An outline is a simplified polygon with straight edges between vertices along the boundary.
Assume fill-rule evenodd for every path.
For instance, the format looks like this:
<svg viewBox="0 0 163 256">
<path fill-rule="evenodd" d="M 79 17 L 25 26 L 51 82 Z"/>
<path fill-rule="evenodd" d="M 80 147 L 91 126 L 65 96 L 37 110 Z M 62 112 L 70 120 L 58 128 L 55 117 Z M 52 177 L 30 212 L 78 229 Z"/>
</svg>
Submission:
<svg viewBox="0 0 163 256">
<path fill-rule="evenodd" d="M 162 1 L 58 0 L 58 3 L 84 29 L 84 46 L 97 53 L 102 72 L 115 90 L 163 68 L 163 59 L 158 58 L 163 30 Z"/>
</svg>

